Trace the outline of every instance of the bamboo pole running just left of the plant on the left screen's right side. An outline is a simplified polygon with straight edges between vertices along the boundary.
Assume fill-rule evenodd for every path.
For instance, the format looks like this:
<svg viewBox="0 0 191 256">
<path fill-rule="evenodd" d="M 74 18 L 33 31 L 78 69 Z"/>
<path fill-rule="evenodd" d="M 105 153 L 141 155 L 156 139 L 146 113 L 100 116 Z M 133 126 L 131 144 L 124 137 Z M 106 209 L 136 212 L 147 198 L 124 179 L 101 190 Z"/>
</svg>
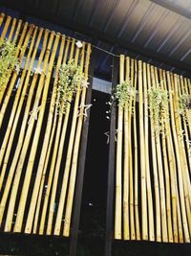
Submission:
<svg viewBox="0 0 191 256">
<path fill-rule="evenodd" d="M 49 116 L 48 116 L 48 121 L 47 121 L 47 128 L 45 131 L 40 160 L 38 163 L 37 174 L 35 176 L 35 182 L 34 182 L 33 191 L 32 191 L 32 199 L 31 199 L 30 209 L 29 209 L 27 223 L 26 223 L 26 227 L 25 227 L 25 233 L 31 233 L 31 231 L 32 231 L 33 215 L 34 215 L 34 211 L 35 211 L 37 196 L 39 193 L 40 181 L 42 178 L 45 157 L 46 157 L 47 150 L 48 150 L 48 144 L 49 144 L 52 124 L 53 124 L 53 110 L 54 110 L 54 105 L 55 105 L 58 74 L 59 74 L 59 69 L 61 66 L 61 59 L 62 59 L 62 55 L 63 55 L 64 44 L 65 44 L 65 35 L 62 35 L 59 56 L 58 56 L 58 60 L 57 60 L 56 70 L 55 70 L 56 75 L 55 75 L 55 79 L 53 82 L 53 93 L 52 93 L 51 105 L 50 105 Z"/>
</svg>

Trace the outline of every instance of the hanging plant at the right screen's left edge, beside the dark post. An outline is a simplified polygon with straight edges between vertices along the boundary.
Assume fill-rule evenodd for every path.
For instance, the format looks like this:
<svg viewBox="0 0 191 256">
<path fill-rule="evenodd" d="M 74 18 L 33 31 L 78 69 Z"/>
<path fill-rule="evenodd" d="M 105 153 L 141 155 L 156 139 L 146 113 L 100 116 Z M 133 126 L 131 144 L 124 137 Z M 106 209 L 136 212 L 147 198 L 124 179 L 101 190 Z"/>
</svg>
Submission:
<svg viewBox="0 0 191 256">
<path fill-rule="evenodd" d="M 117 84 L 113 95 L 111 96 L 111 101 L 107 103 L 107 105 L 112 106 L 115 101 L 118 102 L 119 105 L 122 107 L 127 106 L 128 110 L 131 110 L 133 112 L 133 105 L 130 109 L 130 100 L 135 100 L 136 98 L 137 90 L 133 87 L 131 80 L 122 81 L 121 83 Z M 109 111 L 106 111 L 106 113 L 110 113 L 111 109 Z M 106 116 L 106 118 L 109 119 L 109 116 Z"/>
</svg>

